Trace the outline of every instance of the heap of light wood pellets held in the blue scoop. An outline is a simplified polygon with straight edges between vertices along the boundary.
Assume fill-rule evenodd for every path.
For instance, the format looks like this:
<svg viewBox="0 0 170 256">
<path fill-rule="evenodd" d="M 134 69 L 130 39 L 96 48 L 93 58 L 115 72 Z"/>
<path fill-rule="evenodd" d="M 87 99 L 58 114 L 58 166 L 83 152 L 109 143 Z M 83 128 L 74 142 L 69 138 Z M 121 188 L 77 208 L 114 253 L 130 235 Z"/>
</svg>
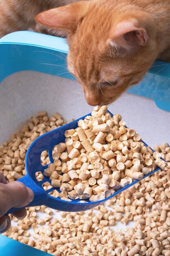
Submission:
<svg viewBox="0 0 170 256">
<path fill-rule="evenodd" d="M 166 167 L 161 154 L 145 146 L 121 115 L 112 117 L 107 106 L 94 107 L 91 115 L 64 135 L 65 143 L 53 153 L 54 163 L 44 170 L 51 185 L 60 188 L 62 200 L 103 200 L 157 166 Z"/>
</svg>

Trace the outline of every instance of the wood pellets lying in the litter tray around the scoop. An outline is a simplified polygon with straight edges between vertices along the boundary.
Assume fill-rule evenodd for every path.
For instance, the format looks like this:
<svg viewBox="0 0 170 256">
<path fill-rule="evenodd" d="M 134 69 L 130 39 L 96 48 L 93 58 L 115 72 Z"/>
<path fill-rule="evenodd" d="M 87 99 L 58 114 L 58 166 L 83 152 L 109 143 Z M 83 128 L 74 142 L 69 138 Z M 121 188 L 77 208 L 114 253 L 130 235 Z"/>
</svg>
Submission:
<svg viewBox="0 0 170 256">
<path fill-rule="evenodd" d="M 25 175 L 24 158 L 31 142 L 63 124 L 59 114 L 48 118 L 46 112 L 39 112 L 0 146 L 0 172 L 9 182 Z M 168 162 L 165 170 L 104 205 L 86 212 L 61 212 L 61 220 L 53 218 L 54 211 L 49 208 L 29 207 L 23 220 L 11 216 L 16 225 L 4 236 L 55 256 L 170 256 L 170 146 L 162 144 L 155 150 Z M 42 164 L 46 163 L 47 153 L 42 158 Z M 46 216 L 38 218 L 39 212 Z M 126 232 L 113 231 L 117 222 L 126 225 L 132 220 L 135 226 Z"/>
</svg>

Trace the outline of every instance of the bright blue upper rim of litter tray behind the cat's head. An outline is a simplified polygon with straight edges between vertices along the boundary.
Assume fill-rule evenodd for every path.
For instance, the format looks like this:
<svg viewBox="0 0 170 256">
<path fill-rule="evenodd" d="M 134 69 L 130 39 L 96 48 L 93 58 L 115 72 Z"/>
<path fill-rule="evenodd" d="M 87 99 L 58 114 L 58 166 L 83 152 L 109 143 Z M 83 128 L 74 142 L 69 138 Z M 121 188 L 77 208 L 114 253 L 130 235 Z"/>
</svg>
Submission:
<svg viewBox="0 0 170 256">
<path fill-rule="evenodd" d="M 66 40 L 31 31 L 18 31 L 0 39 L 0 81 L 23 70 L 75 79 L 67 70 Z M 170 111 L 170 63 L 155 61 L 144 79 L 127 92 L 151 98 Z"/>
</svg>

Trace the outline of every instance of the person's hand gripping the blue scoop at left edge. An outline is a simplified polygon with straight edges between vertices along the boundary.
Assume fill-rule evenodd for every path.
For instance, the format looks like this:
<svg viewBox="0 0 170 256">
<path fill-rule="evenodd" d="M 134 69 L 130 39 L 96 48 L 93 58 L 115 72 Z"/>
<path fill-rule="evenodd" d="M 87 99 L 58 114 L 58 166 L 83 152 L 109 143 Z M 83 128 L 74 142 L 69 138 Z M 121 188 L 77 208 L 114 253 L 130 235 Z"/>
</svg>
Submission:
<svg viewBox="0 0 170 256">
<path fill-rule="evenodd" d="M 12 207 L 24 207 L 34 198 L 34 193 L 22 182 L 9 182 L 0 173 L 0 233 L 4 233 L 11 226 L 11 219 L 4 215 Z M 26 209 L 21 209 L 11 213 L 18 219 L 26 217 Z"/>
</svg>

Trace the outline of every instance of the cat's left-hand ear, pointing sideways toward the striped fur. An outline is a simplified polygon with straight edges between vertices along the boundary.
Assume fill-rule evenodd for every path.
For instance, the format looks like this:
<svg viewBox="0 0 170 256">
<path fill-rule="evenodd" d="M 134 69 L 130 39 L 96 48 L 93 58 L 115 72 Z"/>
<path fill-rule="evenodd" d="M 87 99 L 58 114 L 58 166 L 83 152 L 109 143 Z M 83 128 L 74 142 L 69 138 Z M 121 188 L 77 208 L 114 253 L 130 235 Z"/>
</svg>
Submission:
<svg viewBox="0 0 170 256">
<path fill-rule="evenodd" d="M 81 5 L 79 3 L 43 11 L 35 17 L 35 21 L 51 29 L 59 29 L 61 34 L 73 32 L 78 23 L 78 13 Z"/>
</svg>

